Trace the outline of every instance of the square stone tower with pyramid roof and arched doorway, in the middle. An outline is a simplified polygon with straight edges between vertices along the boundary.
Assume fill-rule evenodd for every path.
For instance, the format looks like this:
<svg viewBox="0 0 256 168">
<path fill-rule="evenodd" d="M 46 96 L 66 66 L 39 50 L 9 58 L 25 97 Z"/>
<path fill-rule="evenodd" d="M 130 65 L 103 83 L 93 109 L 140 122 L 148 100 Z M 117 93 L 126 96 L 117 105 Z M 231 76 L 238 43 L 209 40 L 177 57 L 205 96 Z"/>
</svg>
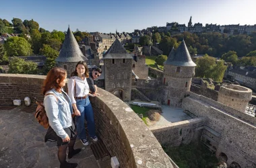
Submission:
<svg viewBox="0 0 256 168">
<path fill-rule="evenodd" d="M 133 57 L 118 39 L 103 55 L 105 90 L 123 101 L 131 101 L 131 78 Z"/>
</svg>

